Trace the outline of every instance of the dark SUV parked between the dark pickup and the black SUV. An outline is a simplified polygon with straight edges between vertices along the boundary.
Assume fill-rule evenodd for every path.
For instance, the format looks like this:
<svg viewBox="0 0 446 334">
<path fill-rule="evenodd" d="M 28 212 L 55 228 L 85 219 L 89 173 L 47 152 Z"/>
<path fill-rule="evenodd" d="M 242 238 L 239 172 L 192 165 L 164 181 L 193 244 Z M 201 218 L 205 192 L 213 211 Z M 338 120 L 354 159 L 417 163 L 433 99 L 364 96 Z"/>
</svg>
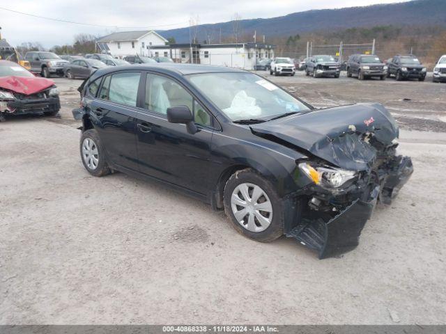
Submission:
<svg viewBox="0 0 446 334">
<path fill-rule="evenodd" d="M 347 77 L 351 78 L 353 75 L 356 75 L 360 80 L 370 77 L 379 77 L 381 80 L 385 80 L 387 65 L 375 55 L 353 54 L 348 58 Z"/>
</svg>

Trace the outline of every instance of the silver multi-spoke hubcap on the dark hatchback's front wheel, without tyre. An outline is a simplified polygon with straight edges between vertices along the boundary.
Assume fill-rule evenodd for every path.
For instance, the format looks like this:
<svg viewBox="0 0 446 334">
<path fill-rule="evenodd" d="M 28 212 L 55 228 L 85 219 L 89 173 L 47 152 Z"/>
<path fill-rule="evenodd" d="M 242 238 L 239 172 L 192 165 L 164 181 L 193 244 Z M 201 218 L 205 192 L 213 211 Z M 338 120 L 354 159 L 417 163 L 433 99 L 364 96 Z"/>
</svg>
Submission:
<svg viewBox="0 0 446 334">
<path fill-rule="evenodd" d="M 262 232 L 272 221 L 270 198 L 256 184 L 236 186 L 231 195 L 231 209 L 238 223 L 250 232 Z"/>
</svg>

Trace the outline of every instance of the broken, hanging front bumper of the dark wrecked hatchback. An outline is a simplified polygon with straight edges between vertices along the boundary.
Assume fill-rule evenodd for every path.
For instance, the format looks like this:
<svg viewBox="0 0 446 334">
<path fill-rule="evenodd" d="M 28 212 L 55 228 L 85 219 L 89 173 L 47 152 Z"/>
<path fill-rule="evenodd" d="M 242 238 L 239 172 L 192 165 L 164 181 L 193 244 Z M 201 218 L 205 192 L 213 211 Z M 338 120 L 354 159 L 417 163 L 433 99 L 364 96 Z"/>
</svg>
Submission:
<svg viewBox="0 0 446 334">
<path fill-rule="evenodd" d="M 361 198 L 353 200 L 330 219 L 323 215 L 318 217 L 312 212 L 311 218 L 300 219 L 294 228 L 286 232 L 286 237 L 293 237 L 300 244 L 316 250 L 320 259 L 353 250 L 359 244 L 362 228 L 374 212 L 378 199 L 389 204 L 412 173 L 413 165 L 409 157 L 396 158 L 394 168 L 388 171 L 382 184 L 376 185 L 370 193 L 362 194 Z"/>
</svg>

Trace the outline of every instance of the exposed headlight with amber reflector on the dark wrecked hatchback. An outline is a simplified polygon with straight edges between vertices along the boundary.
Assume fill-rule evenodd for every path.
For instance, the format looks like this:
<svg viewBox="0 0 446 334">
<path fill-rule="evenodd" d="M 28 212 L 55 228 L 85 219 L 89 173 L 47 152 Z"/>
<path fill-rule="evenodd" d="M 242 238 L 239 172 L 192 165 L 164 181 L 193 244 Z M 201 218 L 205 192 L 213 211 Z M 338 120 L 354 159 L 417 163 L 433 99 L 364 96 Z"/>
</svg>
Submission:
<svg viewBox="0 0 446 334">
<path fill-rule="evenodd" d="M 307 162 L 299 164 L 299 168 L 313 180 L 315 184 L 329 188 L 338 188 L 356 176 L 353 170 L 334 167 L 312 167 Z"/>
</svg>

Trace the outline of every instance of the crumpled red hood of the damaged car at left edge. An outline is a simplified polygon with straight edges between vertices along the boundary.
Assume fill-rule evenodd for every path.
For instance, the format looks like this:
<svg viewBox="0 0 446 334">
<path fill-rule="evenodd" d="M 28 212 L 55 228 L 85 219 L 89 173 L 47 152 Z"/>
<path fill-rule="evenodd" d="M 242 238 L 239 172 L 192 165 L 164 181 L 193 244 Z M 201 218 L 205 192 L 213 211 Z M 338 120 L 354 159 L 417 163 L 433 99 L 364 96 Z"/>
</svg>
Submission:
<svg viewBox="0 0 446 334">
<path fill-rule="evenodd" d="M 0 88 L 31 95 L 54 85 L 54 81 L 39 77 L 0 77 Z"/>
</svg>

